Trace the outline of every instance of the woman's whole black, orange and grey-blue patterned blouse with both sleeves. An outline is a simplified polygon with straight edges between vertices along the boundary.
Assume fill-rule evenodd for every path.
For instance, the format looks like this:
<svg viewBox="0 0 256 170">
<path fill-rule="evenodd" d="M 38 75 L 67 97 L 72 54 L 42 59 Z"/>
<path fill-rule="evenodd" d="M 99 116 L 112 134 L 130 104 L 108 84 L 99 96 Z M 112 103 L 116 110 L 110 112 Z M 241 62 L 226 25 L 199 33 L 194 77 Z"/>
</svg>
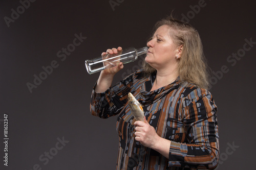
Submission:
<svg viewBox="0 0 256 170">
<path fill-rule="evenodd" d="M 92 92 L 90 110 L 100 118 L 117 116 L 117 169 L 212 169 L 218 165 L 217 106 L 209 91 L 176 80 L 150 91 L 156 72 L 142 69 L 103 93 Z M 135 118 L 127 103 L 131 92 L 156 133 L 171 141 L 169 158 L 135 140 Z"/>
</svg>

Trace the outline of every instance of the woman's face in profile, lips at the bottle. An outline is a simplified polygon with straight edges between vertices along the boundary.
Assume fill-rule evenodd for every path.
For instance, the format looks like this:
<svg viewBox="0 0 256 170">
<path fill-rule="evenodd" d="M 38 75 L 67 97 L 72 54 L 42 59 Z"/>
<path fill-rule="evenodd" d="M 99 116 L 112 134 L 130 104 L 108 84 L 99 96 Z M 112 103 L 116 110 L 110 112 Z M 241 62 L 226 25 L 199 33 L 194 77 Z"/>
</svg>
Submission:
<svg viewBox="0 0 256 170">
<path fill-rule="evenodd" d="M 159 27 L 152 40 L 147 42 L 149 48 L 145 61 L 156 69 L 172 67 L 177 63 L 176 56 L 180 55 L 180 46 L 170 38 L 169 29 L 167 25 Z"/>
</svg>

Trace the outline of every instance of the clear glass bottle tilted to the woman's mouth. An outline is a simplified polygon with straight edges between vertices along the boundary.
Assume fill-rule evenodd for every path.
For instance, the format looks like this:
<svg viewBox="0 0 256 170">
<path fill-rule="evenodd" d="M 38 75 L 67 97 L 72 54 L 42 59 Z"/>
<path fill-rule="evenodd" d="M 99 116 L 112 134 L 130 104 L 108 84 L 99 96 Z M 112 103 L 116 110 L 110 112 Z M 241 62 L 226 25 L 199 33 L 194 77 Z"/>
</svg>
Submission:
<svg viewBox="0 0 256 170">
<path fill-rule="evenodd" d="M 86 69 L 91 75 L 95 72 L 114 67 L 120 62 L 123 64 L 133 62 L 138 59 L 138 56 L 146 54 L 147 52 L 147 47 L 138 49 L 135 49 L 134 47 L 125 48 L 117 54 L 106 54 L 98 58 L 86 60 Z"/>
</svg>

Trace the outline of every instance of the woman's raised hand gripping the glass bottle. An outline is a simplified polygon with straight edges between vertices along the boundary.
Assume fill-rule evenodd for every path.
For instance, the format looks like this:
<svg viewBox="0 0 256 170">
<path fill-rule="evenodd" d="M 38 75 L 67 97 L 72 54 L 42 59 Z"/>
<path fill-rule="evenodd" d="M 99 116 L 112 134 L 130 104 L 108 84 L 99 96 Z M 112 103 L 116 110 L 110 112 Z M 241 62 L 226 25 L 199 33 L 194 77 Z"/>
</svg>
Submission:
<svg viewBox="0 0 256 170">
<path fill-rule="evenodd" d="M 106 52 L 103 52 L 101 54 L 101 56 L 105 56 L 105 55 L 115 55 L 115 54 L 118 54 L 122 52 L 122 47 L 118 47 L 118 48 L 112 48 L 112 49 L 108 49 L 106 50 Z M 108 56 L 106 56 L 106 58 L 108 58 Z M 111 68 L 108 68 L 108 69 L 104 69 L 101 71 L 101 74 L 103 75 L 109 75 L 109 76 L 114 76 L 118 71 L 120 71 L 121 69 L 123 68 L 123 63 L 120 62 L 118 63 L 117 66 L 114 66 L 114 67 L 111 67 Z"/>
</svg>

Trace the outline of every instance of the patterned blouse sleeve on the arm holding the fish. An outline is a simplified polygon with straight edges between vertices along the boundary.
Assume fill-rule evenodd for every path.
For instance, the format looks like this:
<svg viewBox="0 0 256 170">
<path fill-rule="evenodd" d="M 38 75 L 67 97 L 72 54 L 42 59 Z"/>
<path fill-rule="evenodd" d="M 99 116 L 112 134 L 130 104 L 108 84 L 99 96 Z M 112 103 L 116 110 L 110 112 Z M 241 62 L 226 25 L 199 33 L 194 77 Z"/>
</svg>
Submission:
<svg viewBox="0 0 256 170">
<path fill-rule="evenodd" d="M 209 91 L 197 88 L 182 102 L 187 143 L 171 141 L 169 166 L 214 169 L 219 160 L 217 106 Z"/>
</svg>

